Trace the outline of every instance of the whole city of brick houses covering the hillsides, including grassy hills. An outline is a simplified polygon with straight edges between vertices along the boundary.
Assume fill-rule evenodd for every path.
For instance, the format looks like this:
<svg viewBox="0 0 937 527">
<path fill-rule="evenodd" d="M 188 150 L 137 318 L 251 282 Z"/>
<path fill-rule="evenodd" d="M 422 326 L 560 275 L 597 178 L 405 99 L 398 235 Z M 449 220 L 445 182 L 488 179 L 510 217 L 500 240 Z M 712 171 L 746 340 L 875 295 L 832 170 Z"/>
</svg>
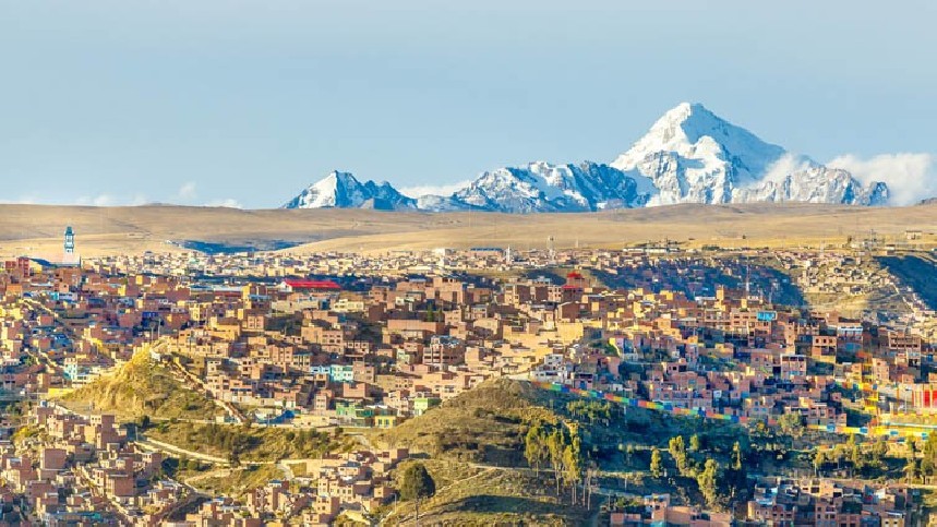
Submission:
<svg viewBox="0 0 937 527">
<path fill-rule="evenodd" d="M 81 259 L 69 228 L 0 274 L 0 525 L 924 525 L 917 238 Z"/>
</svg>

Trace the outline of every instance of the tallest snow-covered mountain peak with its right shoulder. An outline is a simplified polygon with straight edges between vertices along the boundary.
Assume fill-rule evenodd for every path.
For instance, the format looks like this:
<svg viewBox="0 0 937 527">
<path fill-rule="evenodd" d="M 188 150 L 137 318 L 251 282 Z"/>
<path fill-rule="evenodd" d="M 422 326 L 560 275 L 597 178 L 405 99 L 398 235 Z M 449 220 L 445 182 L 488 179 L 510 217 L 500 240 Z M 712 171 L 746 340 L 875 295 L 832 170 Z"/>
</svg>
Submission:
<svg viewBox="0 0 937 527">
<path fill-rule="evenodd" d="M 878 183 L 863 188 L 849 172 L 806 157 L 792 163 L 784 148 L 731 124 L 702 105 L 671 109 L 612 166 L 649 178 L 649 204 L 809 201 L 881 204 Z M 791 168 L 784 172 L 784 168 Z"/>
</svg>

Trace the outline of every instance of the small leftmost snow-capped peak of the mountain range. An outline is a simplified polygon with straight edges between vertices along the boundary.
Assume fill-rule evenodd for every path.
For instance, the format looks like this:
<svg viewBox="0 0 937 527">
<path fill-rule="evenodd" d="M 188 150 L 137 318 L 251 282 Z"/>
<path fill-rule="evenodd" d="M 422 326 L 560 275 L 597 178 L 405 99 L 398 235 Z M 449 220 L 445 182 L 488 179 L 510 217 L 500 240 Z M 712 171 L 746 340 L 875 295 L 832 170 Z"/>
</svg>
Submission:
<svg viewBox="0 0 937 527">
<path fill-rule="evenodd" d="M 397 191 L 391 183 L 361 183 L 351 173 L 333 171 L 309 185 L 283 208 L 377 208 L 415 209 L 417 201 Z"/>
</svg>

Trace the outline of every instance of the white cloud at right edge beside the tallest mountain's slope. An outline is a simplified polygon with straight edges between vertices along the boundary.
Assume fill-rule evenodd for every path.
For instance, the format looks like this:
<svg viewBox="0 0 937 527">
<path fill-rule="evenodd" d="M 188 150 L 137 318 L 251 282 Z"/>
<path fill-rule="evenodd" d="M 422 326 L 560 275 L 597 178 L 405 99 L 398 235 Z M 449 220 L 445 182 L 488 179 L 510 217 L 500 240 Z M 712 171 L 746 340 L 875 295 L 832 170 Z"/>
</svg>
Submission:
<svg viewBox="0 0 937 527">
<path fill-rule="evenodd" d="M 932 154 L 881 154 L 862 159 L 852 154 L 827 163 L 830 168 L 849 170 L 865 184 L 884 181 L 892 205 L 910 205 L 937 195 L 937 157 Z"/>
</svg>

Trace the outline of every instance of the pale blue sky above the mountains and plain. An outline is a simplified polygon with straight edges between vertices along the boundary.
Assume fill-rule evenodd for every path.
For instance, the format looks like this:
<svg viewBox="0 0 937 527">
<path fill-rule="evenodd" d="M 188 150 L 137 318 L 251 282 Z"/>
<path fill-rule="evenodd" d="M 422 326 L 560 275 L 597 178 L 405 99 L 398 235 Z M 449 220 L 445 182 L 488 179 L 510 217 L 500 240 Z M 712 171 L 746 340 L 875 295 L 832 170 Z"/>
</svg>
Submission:
<svg viewBox="0 0 937 527">
<path fill-rule="evenodd" d="M 415 187 L 610 161 L 682 100 L 933 177 L 935 21 L 932 1 L 2 0 L 0 201 L 261 208 L 333 169 Z"/>
</svg>

